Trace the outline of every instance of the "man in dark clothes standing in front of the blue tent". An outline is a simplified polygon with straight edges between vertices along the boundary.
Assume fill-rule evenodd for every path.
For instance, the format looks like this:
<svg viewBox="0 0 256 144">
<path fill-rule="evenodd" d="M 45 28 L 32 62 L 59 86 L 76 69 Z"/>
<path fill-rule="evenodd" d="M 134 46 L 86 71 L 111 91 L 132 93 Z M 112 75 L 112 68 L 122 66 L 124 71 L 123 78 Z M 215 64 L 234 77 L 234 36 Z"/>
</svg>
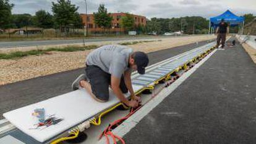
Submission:
<svg viewBox="0 0 256 144">
<path fill-rule="evenodd" d="M 221 19 L 221 22 L 219 23 L 217 29 L 216 29 L 216 35 L 217 35 L 217 45 L 216 48 L 220 46 L 221 41 L 221 48 L 224 48 L 225 41 L 226 41 L 226 35 L 229 33 L 229 25 L 224 21 L 224 19 Z"/>
</svg>

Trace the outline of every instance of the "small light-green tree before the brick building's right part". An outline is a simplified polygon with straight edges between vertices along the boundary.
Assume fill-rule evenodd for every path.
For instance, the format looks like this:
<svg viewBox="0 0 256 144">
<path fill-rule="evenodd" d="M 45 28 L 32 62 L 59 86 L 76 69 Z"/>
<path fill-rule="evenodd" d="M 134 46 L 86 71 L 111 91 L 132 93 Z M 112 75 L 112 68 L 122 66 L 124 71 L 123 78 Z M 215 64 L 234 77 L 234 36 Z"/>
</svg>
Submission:
<svg viewBox="0 0 256 144">
<path fill-rule="evenodd" d="M 130 31 L 134 30 L 134 16 L 131 14 L 126 13 L 125 16 L 121 17 L 121 27 L 124 28 L 124 30 Z"/>
</svg>

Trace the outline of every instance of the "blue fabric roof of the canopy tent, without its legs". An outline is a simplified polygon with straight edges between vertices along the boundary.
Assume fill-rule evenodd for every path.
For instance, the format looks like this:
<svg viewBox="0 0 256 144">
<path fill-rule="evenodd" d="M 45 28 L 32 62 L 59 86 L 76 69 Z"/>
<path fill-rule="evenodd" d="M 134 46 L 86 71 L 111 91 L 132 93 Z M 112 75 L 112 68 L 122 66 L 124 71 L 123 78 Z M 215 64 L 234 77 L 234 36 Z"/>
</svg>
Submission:
<svg viewBox="0 0 256 144">
<path fill-rule="evenodd" d="M 233 14 L 231 11 L 226 11 L 221 15 L 218 15 L 216 17 L 211 17 L 210 22 L 213 25 L 218 25 L 220 23 L 221 19 L 224 19 L 226 22 L 229 22 L 230 25 L 238 25 L 239 23 L 244 22 L 244 17 L 239 17 L 235 14 Z"/>
</svg>

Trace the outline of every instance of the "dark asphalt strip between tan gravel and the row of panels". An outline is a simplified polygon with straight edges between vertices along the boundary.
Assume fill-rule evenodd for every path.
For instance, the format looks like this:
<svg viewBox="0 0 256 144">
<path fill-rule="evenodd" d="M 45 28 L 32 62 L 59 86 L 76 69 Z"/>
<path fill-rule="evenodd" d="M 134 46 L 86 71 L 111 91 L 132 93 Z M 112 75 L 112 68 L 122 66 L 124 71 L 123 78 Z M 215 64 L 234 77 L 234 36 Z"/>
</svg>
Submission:
<svg viewBox="0 0 256 144">
<path fill-rule="evenodd" d="M 206 43 L 202 41 L 198 45 L 193 43 L 149 53 L 150 65 Z M 0 86 L 0 119 L 4 112 L 71 91 L 72 82 L 82 73 L 83 69 L 75 69 Z"/>
</svg>

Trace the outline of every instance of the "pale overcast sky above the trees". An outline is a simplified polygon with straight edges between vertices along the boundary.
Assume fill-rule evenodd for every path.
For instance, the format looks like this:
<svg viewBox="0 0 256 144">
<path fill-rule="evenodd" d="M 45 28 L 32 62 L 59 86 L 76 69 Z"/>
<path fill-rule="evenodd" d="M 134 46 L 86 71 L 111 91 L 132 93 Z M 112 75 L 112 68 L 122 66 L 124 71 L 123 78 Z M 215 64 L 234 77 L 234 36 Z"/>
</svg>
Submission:
<svg viewBox="0 0 256 144">
<path fill-rule="evenodd" d="M 35 12 L 43 9 L 51 12 L 51 2 L 57 0 L 10 0 L 15 6 L 13 14 Z M 84 0 L 71 0 L 79 6 L 79 12 L 85 13 Z M 88 14 L 96 12 L 99 4 L 105 4 L 108 12 L 129 12 L 151 17 L 212 17 L 227 9 L 237 15 L 252 13 L 256 15 L 256 0 L 87 0 Z"/>
</svg>

